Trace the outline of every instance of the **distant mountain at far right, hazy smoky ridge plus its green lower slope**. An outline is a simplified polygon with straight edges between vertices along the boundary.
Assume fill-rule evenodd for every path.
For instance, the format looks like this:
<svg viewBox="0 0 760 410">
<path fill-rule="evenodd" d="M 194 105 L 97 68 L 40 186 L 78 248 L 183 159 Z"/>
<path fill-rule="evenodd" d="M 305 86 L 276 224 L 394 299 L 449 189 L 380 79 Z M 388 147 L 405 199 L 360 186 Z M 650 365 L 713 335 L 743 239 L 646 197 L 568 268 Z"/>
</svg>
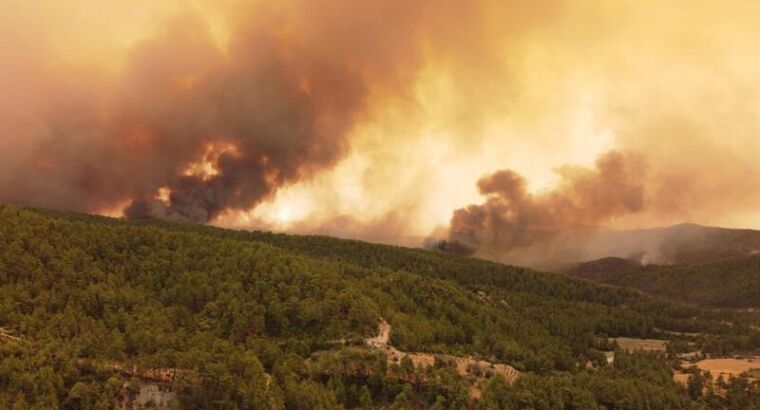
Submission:
<svg viewBox="0 0 760 410">
<path fill-rule="evenodd" d="M 682 303 L 760 307 L 760 231 L 682 224 L 611 231 L 594 241 L 611 256 L 554 270 Z"/>
</svg>

